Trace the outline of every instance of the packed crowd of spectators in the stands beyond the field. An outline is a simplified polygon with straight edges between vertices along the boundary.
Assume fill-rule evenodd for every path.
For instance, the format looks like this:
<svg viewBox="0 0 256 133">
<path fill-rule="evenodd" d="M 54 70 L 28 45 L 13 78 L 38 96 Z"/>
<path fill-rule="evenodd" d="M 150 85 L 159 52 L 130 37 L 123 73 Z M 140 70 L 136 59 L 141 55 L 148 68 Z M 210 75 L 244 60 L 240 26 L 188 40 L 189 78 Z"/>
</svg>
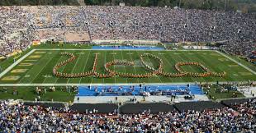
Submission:
<svg viewBox="0 0 256 133">
<path fill-rule="evenodd" d="M 250 52 L 256 40 L 256 16 L 228 11 L 168 7 L 43 6 L 0 7 L 0 13 L 2 55 L 26 48 L 35 39 L 65 41 L 70 36 L 83 34 L 88 35 L 79 40 L 227 41 L 224 48 L 230 52 L 234 50 L 230 49 L 233 43 L 229 40 L 239 40 L 234 44 L 235 53 L 243 55 Z M 244 42 L 244 39 L 248 41 Z"/>
</svg>

